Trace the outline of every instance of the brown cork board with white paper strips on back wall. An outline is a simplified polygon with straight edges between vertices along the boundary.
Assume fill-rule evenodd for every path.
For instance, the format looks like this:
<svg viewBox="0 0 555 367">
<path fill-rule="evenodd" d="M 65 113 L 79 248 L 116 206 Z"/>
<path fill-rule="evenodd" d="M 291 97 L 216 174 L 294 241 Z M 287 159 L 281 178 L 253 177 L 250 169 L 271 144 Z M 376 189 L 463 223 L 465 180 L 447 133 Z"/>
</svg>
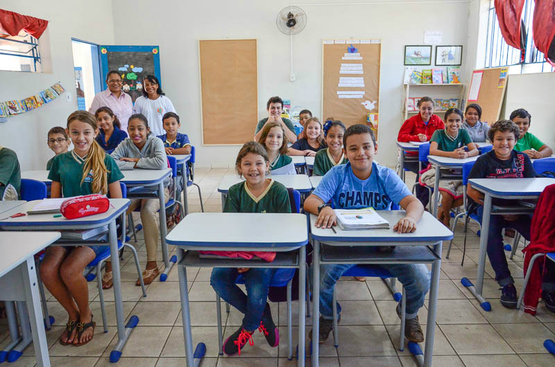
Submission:
<svg viewBox="0 0 555 367">
<path fill-rule="evenodd" d="M 323 119 L 333 117 L 343 121 L 347 127 L 359 123 L 368 125 L 374 130 L 377 137 L 381 46 L 379 39 L 323 40 Z M 352 48 L 356 48 L 356 50 Z M 361 59 L 357 60 L 357 57 L 361 57 Z M 343 60 L 344 58 L 347 60 Z M 340 78 L 363 78 L 364 87 L 359 84 L 360 79 L 341 82 Z M 348 86 L 349 83 L 355 84 Z M 340 84 L 341 87 L 339 87 Z M 340 95 L 356 96 L 356 98 L 339 98 Z M 366 101 L 370 102 L 367 105 L 371 109 L 366 109 L 362 105 Z M 373 123 L 368 123 L 368 113 L 375 114 Z"/>
</svg>

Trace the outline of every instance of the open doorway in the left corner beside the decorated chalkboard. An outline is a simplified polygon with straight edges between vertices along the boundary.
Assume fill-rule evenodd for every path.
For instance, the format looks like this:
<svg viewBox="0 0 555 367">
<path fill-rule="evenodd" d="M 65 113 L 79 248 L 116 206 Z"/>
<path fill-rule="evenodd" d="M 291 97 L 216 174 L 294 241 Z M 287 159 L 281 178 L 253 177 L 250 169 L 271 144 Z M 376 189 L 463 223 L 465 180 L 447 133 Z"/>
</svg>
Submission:
<svg viewBox="0 0 555 367">
<path fill-rule="evenodd" d="M 88 110 L 96 93 L 101 89 L 99 45 L 80 39 L 71 39 L 74 55 L 75 87 L 77 107 Z"/>
</svg>

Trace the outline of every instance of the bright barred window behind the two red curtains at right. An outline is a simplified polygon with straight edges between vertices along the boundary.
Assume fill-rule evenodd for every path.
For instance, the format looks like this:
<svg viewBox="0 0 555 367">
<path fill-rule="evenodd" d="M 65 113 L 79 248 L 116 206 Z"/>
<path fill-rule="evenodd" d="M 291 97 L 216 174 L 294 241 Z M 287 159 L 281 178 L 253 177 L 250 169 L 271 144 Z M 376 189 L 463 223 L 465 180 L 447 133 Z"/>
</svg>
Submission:
<svg viewBox="0 0 555 367">
<path fill-rule="evenodd" d="M 488 34 L 486 40 L 486 68 L 498 66 L 512 66 L 509 73 L 544 73 L 555 71 L 555 68 L 545 61 L 543 53 L 534 46 L 532 39 L 532 18 L 534 1 L 526 0 L 522 19 L 526 28 L 526 46 L 523 51 L 506 44 L 499 22 L 495 14 L 494 1 L 490 0 L 488 12 Z"/>
</svg>

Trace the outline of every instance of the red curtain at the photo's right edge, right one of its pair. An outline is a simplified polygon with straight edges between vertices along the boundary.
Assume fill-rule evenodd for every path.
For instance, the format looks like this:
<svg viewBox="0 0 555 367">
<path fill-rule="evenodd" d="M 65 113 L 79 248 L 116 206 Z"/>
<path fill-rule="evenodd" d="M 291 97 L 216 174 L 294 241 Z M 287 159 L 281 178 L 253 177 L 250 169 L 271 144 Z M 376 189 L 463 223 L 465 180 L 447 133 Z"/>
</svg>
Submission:
<svg viewBox="0 0 555 367">
<path fill-rule="evenodd" d="M 555 0 L 536 0 L 532 32 L 533 44 L 543 52 L 545 60 L 555 66 Z"/>
</svg>

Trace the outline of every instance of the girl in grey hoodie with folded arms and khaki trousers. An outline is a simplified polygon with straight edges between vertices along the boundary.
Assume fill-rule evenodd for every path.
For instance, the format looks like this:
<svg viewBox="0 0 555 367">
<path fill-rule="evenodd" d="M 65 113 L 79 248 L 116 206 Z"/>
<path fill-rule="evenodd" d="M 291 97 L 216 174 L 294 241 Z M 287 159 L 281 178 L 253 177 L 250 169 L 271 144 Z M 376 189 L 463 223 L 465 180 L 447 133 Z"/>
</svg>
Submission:
<svg viewBox="0 0 555 367">
<path fill-rule="evenodd" d="M 148 121 L 142 114 L 135 114 L 129 118 L 128 125 L 129 138 L 122 141 L 112 153 L 121 170 L 134 170 L 143 168 L 146 170 L 163 170 L 168 167 L 168 159 L 164 150 L 164 143 L 151 133 L 148 128 Z M 164 202 L 169 199 L 169 185 L 171 177 L 164 180 Z M 144 284 L 151 284 L 160 274 L 156 263 L 156 251 L 160 232 L 158 231 L 157 212 L 160 209 L 159 199 L 135 199 L 127 210 L 127 214 L 136 208 L 141 208 L 141 222 L 144 229 L 144 244 L 146 246 L 146 269 L 143 271 Z M 162 208 L 164 210 L 164 208 Z M 160 223 L 165 226 L 165 223 Z M 111 288 L 112 282 L 112 263 L 106 262 L 106 272 L 102 278 L 102 287 Z M 137 279 L 135 285 L 141 283 Z"/>
</svg>

